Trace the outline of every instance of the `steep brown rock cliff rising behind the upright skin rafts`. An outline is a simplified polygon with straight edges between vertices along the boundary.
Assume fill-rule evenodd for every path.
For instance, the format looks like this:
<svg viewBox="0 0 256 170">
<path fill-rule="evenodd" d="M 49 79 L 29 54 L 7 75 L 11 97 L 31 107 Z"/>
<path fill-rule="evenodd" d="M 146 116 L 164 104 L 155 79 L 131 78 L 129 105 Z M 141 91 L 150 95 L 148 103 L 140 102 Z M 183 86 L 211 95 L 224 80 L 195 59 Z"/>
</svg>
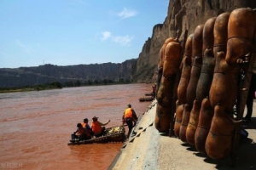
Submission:
<svg viewBox="0 0 256 170">
<path fill-rule="evenodd" d="M 143 45 L 134 77 L 138 82 L 155 82 L 158 54 L 167 37 L 177 37 L 182 41 L 185 30 L 190 34 L 196 26 L 204 24 L 209 18 L 243 7 L 256 8 L 256 1 L 170 0 L 166 20 L 154 26 L 152 37 Z"/>
</svg>

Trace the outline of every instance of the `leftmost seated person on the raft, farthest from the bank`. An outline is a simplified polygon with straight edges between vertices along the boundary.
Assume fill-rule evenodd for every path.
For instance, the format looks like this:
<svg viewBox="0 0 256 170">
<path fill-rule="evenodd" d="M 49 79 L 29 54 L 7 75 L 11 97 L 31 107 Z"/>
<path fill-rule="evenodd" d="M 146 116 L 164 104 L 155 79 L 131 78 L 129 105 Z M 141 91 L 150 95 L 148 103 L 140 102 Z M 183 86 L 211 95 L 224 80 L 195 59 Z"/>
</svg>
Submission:
<svg viewBox="0 0 256 170">
<path fill-rule="evenodd" d="M 87 131 L 86 128 L 84 128 L 82 126 L 81 123 L 78 123 L 77 127 L 78 127 L 77 131 L 73 132 L 73 134 L 71 134 L 70 142 L 75 142 L 76 139 L 78 139 L 78 141 L 86 140 L 86 139 L 91 139 L 90 133 Z"/>
</svg>

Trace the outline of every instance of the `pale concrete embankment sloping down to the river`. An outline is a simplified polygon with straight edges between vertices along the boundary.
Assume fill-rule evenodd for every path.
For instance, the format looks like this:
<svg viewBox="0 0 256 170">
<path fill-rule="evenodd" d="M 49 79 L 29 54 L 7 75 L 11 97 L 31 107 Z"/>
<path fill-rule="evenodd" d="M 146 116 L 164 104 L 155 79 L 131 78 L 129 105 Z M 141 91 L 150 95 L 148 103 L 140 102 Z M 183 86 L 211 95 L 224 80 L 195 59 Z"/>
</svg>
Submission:
<svg viewBox="0 0 256 170">
<path fill-rule="evenodd" d="M 154 100 L 137 124 L 129 141 L 124 143 L 108 169 L 256 169 L 256 101 L 253 105 L 252 122 L 243 127 L 249 133 L 237 150 L 236 167 L 230 168 L 230 158 L 212 160 L 199 153 L 194 146 L 183 143 L 175 137 L 159 133 L 154 127 L 156 109 Z M 246 111 L 245 111 L 246 113 Z"/>
</svg>

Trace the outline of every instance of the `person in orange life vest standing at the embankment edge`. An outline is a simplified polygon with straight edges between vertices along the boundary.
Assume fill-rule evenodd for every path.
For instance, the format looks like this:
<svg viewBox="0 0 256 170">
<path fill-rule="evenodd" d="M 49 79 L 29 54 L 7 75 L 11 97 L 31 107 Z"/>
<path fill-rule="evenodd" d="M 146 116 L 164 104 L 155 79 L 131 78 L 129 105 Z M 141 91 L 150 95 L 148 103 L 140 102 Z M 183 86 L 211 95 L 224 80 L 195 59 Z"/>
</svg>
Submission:
<svg viewBox="0 0 256 170">
<path fill-rule="evenodd" d="M 134 124 L 133 124 L 134 122 Z M 132 127 L 135 126 L 135 123 L 137 122 L 137 115 L 136 112 L 131 108 L 131 105 L 127 105 L 127 108 L 125 109 L 124 115 L 123 115 L 123 125 L 124 123 L 127 124 L 129 131 L 127 136 L 130 136 Z"/>
</svg>

